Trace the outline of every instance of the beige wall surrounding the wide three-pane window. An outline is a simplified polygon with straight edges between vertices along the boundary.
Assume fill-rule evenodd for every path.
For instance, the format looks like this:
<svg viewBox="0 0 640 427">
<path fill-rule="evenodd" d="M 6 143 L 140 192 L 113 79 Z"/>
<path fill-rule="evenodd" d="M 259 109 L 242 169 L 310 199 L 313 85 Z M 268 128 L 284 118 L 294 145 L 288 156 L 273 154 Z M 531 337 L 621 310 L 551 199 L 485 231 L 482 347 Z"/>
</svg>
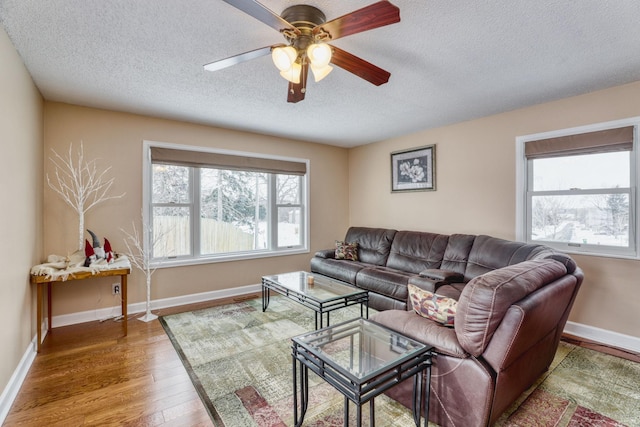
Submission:
<svg viewBox="0 0 640 427">
<path fill-rule="evenodd" d="M 72 143 L 75 153 L 82 141 L 87 159 L 98 159 L 100 170 L 112 168 L 110 176 L 116 178 L 113 194 L 126 193 L 122 199 L 96 206 L 85 219 L 86 228 L 101 239 L 107 237 L 116 251 L 125 249 L 121 229 L 131 230 L 132 220 L 138 227 L 140 223 L 143 140 L 310 160 L 310 253 L 158 269 L 153 275 L 153 300 L 257 284 L 264 274 L 308 268 L 312 254 L 331 246 L 348 226 L 346 149 L 53 102 L 45 103 L 44 122 L 46 173 L 54 173 L 49 161 L 52 149 L 66 155 Z M 73 252 L 77 215 L 48 187 L 44 193 L 44 254 Z M 129 303 L 144 301 L 144 276 L 134 271 L 129 280 Z M 111 295 L 113 281 L 56 284 L 53 315 L 116 305 Z"/>
</svg>

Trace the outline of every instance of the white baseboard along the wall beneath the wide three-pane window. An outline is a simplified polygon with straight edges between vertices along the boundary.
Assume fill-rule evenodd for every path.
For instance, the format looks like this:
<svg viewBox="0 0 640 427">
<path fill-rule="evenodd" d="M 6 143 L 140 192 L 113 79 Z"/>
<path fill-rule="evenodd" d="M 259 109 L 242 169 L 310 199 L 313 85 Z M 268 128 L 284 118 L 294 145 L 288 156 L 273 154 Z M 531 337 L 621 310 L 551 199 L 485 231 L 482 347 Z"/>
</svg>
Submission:
<svg viewBox="0 0 640 427">
<path fill-rule="evenodd" d="M 151 301 L 151 310 L 159 310 L 161 308 L 176 307 L 179 305 L 194 304 L 221 298 L 229 298 L 239 295 L 256 293 L 259 292 L 260 289 L 260 285 L 247 285 L 238 288 L 223 289 L 220 291 L 210 291 L 199 294 L 153 300 Z M 127 305 L 127 312 L 129 315 L 144 313 L 146 310 L 147 304 L 145 302 L 138 302 Z M 118 305 L 97 310 L 53 316 L 53 318 L 51 319 L 51 324 L 52 327 L 57 328 L 60 326 L 76 325 L 78 323 L 94 322 L 96 320 L 106 320 L 116 316 L 120 316 L 121 314 L 122 310 Z"/>
</svg>

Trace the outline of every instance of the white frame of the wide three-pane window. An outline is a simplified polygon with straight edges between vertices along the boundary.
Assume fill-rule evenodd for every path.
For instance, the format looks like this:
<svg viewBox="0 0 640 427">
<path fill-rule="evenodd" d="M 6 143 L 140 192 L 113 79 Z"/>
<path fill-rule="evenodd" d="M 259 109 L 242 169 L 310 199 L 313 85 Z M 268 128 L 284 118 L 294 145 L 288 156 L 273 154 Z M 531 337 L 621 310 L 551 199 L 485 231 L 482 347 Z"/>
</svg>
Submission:
<svg viewBox="0 0 640 427">
<path fill-rule="evenodd" d="M 309 159 L 301 159 L 301 158 L 293 158 L 293 157 L 285 157 L 285 156 L 273 156 L 261 153 L 254 152 L 244 152 L 244 151 L 234 151 L 234 150 L 225 150 L 225 149 L 217 149 L 211 147 L 201 147 L 201 146 L 188 146 L 188 145 L 180 145 L 180 144 L 172 144 L 166 142 L 158 142 L 158 141 L 148 141 L 144 140 L 142 144 L 142 221 L 143 224 L 149 224 L 149 226 L 143 227 L 143 239 L 144 239 L 144 247 L 145 251 L 150 251 L 149 242 L 151 242 L 149 231 L 151 229 L 153 214 L 152 209 L 154 204 L 152 203 L 152 177 L 153 177 L 153 163 L 151 160 L 151 148 L 159 147 L 159 148 L 168 148 L 175 150 L 184 150 L 184 151 L 195 151 L 195 152 L 204 152 L 204 153 L 216 153 L 216 154 L 226 154 L 232 156 L 244 156 L 250 158 L 258 158 L 258 159 L 271 159 L 271 160 L 284 160 L 291 162 L 299 162 L 304 163 L 306 165 L 306 173 L 304 175 L 300 175 L 300 227 L 302 229 L 301 232 L 301 244 L 298 246 L 288 246 L 288 247 L 277 247 L 277 215 L 275 214 L 277 209 L 275 197 L 271 197 L 268 203 L 269 213 L 268 213 L 268 223 L 270 229 L 269 232 L 269 240 L 272 244 L 271 249 L 265 250 L 252 250 L 246 252 L 232 252 L 232 253 L 222 253 L 222 254 L 208 254 L 201 255 L 199 245 L 200 245 L 200 221 L 199 219 L 199 204 L 200 204 L 200 191 L 199 191 L 199 180 L 200 174 L 193 173 L 197 169 L 190 170 L 190 192 L 191 192 L 191 255 L 189 256 L 180 256 L 176 258 L 154 258 L 150 261 L 150 264 L 153 268 L 165 268 L 165 267 L 177 267 L 177 266 L 185 266 L 185 265 L 199 265 L 199 264 L 209 264 L 209 263 L 217 263 L 217 262 L 227 262 L 227 261 L 237 261 L 237 260 L 247 260 L 247 259 L 257 259 L 257 258 L 268 258 L 275 256 L 286 256 L 286 255 L 294 255 L 294 254 L 303 254 L 309 253 L 309 234 L 310 234 L 310 222 L 309 222 L 309 170 L 310 170 L 310 161 Z M 275 176 L 277 174 L 270 174 L 270 181 L 275 182 Z M 285 175 L 284 173 L 282 175 Z M 271 183 L 269 184 L 271 186 Z M 273 184 L 275 187 L 275 184 Z M 271 190 L 270 190 L 271 191 Z M 298 205 L 296 205 L 298 206 Z M 275 231 L 273 227 L 276 227 Z"/>
</svg>

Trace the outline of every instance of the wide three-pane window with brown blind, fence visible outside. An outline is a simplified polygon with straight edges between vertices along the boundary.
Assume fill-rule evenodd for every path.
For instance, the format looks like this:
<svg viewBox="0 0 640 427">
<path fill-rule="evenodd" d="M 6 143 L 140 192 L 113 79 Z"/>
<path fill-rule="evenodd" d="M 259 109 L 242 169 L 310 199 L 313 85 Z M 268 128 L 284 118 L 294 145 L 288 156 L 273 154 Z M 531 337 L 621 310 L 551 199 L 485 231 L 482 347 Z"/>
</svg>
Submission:
<svg viewBox="0 0 640 427">
<path fill-rule="evenodd" d="M 144 146 L 146 223 L 158 264 L 308 251 L 307 160 Z"/>
</svg>

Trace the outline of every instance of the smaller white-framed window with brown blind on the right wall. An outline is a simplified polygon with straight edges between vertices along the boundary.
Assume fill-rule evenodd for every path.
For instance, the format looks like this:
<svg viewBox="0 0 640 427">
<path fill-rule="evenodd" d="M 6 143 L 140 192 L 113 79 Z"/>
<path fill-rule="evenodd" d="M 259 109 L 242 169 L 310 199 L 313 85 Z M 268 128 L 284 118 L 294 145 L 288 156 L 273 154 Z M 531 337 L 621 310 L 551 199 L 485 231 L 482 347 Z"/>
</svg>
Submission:
<svg viewBox="0 0 640 427">
<path fill-rule="evenodd" d="M 637 122 L 517 139 L 520 240 L 573 253 L 638 256 Z"/>
</svg>

